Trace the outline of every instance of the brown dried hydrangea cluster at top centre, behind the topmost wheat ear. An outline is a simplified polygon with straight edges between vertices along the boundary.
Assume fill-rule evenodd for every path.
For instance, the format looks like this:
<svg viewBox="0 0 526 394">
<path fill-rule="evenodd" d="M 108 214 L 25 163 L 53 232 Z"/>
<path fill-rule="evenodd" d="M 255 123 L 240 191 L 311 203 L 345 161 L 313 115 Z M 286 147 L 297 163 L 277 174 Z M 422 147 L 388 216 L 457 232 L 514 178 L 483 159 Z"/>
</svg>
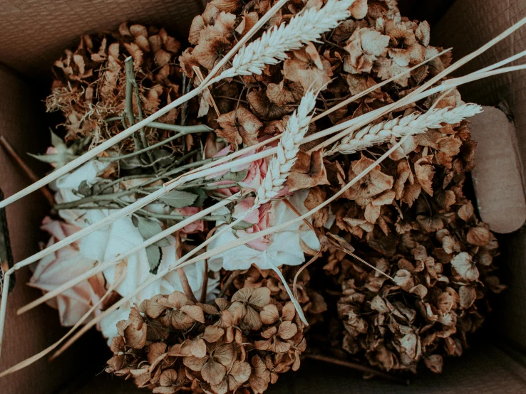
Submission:
<svg viewBox="0 0 526 394">
<path fill-rule="evenodd" d="M 322 4 L 322 0 L 316 0 L 309 1 L 307 6 Z M 210 72 L 270 6 L 269 0 L 247 4 L 239 0 L 213 0 L 207 4 L 205 12 L 192 22 L 189 41 L 194 46 L 180 56 L 182 70 L 189 76 L 194 75 L 195 68 L 205 74 Z M 303 8 L 304 1 L 289 1 L 270 20 L 269 26 L 287 23 Z M 321 43 L 295 50 L 283 63 L 267 66 L 262 75 L 234 78 L 232 82 L 215 85 L 210 94 L 202 95 L 200 116 L 207 115 L 208 124 L 232 144 L 240 141 L 254 144 L 258 136 L 283 130 L 287 115 L 308 87 L 322 88 L 319 99 L 323 109 L 329 109 L 349 95 L 439 53 L 438 48 L 429 46 L 428 23 L 401 18 L 395 1 L 356 1 L 351 14 L 353 18 L 326 34 Z M 316 122 L 313 130 L 398 100 L 405 90 L 420 85 L 429 75 L 436 75 L 449 61 L 447 55 L 430 61 L 389 85 L 388 90 L 373 92 L 337 110 L 328 122 Z M 218 112 L 211 110 L 212 100 Z"/>
</svg>

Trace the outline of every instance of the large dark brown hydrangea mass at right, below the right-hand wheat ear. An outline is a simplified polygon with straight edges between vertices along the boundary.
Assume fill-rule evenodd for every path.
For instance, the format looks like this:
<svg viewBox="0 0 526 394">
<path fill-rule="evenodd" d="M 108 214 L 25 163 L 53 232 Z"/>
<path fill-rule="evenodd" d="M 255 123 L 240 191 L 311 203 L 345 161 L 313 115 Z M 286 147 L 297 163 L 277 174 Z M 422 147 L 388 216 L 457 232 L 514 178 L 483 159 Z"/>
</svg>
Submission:
<svg viewBox="0 0 526 394">
<path fill-rule="evenodd" d="M 463 194 L 474 148 L 468 122 L 432 130 L 333 205 L 333 230 L 393 278 L 329 247 L 324 268 L 341 285 L 341 343 L 352 355 L 387 371 L 416 372 L 423 361 L 440 372 L 483 323 L 488 292 L 502 291 L 497 240 Z M 350 162 L 349 179 L 373 162 L 367 156 Z"/>
</svg>

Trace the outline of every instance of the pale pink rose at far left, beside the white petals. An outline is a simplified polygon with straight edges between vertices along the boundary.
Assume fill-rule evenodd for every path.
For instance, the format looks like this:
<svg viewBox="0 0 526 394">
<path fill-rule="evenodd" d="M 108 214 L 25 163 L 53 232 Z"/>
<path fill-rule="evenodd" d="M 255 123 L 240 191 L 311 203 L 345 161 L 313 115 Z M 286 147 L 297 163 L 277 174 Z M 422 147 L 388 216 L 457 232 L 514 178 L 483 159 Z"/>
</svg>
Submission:
<svg viewBox="0 0 526 394">
<path fill-rule="evenodd" d="M 43 220 L 42 229 L 51 234 L 48 247 L 81 230 L 76 225 L 59 220 L 51 220 L 51 218 Z M 95 264 L 96 261 L 81 255 L 81 252 L 78 250 L 78 243 L 72 243 L 40 260 L 36 265 L 29 285 L 41 289 L 43 292 L 49 292 L 61 286 L 61 284 L 82 275 L 93 268 Z M 99 273 L 51 299 L 48 301 L 48 305 L 58 309 L 63 326 L 73 326 L 105 294 L 104 284 L 104 277 L 102 273 Z M 105 307 L 108 306 L 105 304 L 100 305 L 96 312 L 85 322 L 93 319 Z"/>
</svg>

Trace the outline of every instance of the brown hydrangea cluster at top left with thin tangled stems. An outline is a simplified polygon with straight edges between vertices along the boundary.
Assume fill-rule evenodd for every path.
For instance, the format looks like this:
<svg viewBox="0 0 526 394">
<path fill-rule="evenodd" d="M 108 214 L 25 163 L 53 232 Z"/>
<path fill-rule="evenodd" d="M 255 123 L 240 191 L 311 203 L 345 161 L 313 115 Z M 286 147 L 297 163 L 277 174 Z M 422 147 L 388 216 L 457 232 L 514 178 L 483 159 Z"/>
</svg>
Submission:
<svg viewBox="0 0 526 394">
<path fill-rule="evenodd" d="M 47 98 L 48 111 L 61 111 L 66 118 L 66 139 L 91 137 L 94 144 L 121 132 L 120 117 L 125 108 L 124 60 L 133 58 L 143 115 L 148 116 L 180 96 L 182 76 L 175 64 L 180 43 L 164 28 L 122 23 L 118 31 L 82 36 L 76 50 L 66 50 L 53 66 L 53 92 Z M 133 99 L 135 116 L 137 100 Z M 160 121 L 173 123 L 177 110 Z M 163 139 L 164 132 L 147 130 L 149 142 Z M 124 151 L 133 148 L 122 146 Z"/>
</svg>

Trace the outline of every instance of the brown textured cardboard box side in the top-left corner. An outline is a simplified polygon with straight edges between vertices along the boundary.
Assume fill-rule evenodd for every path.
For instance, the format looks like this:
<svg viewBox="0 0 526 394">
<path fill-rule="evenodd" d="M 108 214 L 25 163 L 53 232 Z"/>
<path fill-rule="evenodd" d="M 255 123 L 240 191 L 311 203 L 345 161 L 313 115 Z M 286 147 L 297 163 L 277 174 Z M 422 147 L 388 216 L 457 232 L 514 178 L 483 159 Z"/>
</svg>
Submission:
<svg viewBox="0 0 526 394">
<path fill-rule="evenodd" d="M 49 75 L 53 62 L 84 33 L 130 21 L 164 27 L 182 41 L 200 0 L 0 0 L 0 63 L 31 77 Z"/>
</svg>

